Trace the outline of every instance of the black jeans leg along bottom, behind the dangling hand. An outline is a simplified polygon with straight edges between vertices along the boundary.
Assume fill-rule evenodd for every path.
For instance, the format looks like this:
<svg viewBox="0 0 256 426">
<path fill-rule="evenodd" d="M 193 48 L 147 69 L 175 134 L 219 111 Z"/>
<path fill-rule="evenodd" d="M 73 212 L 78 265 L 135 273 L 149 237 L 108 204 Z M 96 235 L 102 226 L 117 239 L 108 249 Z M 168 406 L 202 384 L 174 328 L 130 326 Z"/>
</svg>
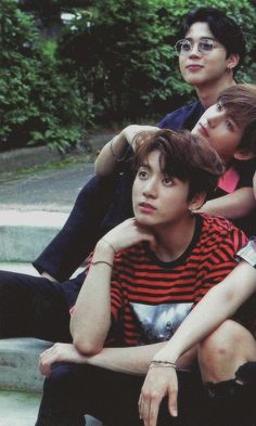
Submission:
<svg viewBox="0 0 256 426">
<path fill-rule="evenodd" d="M 187 377 L 189 374 L 189 377 Z M 36 426 L 82 426 L 90 414 L 107 426 L 141 426 L 138 400 L 144 377 L 86 365 L 56 363 L 44 380 Z M 197 426 L 202 405 L 201 382 L 190 373 L 179 377 L 179 416 L 168 413 L 167 399 L 157 425 Z M 203 425 L 202 426 L 206 426 Z"/>
</svg>

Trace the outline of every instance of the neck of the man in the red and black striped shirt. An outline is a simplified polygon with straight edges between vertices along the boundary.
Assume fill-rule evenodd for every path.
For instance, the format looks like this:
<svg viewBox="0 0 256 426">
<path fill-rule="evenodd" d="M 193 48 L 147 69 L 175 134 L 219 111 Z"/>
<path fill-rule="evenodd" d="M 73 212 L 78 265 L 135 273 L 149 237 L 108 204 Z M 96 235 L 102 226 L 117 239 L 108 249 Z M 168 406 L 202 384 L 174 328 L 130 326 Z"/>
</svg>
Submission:
<svg viewBox="0 0 256 426">
<path fill-rule="evenodd" d="M 162 225 L 155 229 L 157 247 L 155 255 L 163 261 L 178 259 L 193 238 L 195 230 L 195 217 L 191 216 L 179 224 Z"/>
</svg>

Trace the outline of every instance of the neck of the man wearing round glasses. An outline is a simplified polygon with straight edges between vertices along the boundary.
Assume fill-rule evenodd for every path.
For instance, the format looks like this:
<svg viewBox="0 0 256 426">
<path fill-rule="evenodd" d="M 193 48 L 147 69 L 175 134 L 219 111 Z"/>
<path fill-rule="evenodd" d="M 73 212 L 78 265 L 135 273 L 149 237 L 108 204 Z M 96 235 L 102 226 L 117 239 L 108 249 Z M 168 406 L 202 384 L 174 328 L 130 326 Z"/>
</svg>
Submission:
<svg viewBox="0 0 256 426">
<path fill-rule="evenodd" d="M 223 78 L 218 79 L 218 81 L 215 83 L 209 81 L 208 83 L 195 87 L 195 90 L 202 105 L 205 108 L 208 108 L 217 102 L 217 99 L 222 90 L 228 89 L 234 85 L 235 81 L 233 79 L 233 75 L 225 75 Z"/>
</svg>

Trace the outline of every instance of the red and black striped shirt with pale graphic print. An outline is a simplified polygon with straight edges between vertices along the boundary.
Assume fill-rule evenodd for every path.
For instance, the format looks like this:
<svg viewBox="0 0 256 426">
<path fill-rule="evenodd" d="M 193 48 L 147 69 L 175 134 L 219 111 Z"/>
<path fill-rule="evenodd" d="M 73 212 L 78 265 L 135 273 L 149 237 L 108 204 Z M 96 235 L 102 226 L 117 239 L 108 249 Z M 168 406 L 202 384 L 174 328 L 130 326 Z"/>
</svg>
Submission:
<svg viewBox="0 0 256 426">
<path fill-rule="evenodd" d="M 169 339 L 189 310 L 234 268 L 246 241 L 227 219 L 199 215 L 189 247 L 175 261 L 161 261 L 146 243 L 119 251 L 111 296 L 124 345 Z"/>
</svg>

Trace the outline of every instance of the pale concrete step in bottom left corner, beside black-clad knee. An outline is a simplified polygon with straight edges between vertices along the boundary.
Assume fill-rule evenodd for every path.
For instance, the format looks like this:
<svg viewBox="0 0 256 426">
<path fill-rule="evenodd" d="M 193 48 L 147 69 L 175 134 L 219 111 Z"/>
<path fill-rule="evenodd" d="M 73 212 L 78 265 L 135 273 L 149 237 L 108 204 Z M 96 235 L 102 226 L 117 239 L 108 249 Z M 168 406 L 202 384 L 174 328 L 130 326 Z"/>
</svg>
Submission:
<svg viewBox="0 0 256 426">
<path fill-rule="evenodd" d="M 52 344 L 35 338 L 0 339 L 0 426 L 34 426 L 43 377 L 38 357 Z M 87 426 L 102 426 L 87 416 Z"/>
</svg>

